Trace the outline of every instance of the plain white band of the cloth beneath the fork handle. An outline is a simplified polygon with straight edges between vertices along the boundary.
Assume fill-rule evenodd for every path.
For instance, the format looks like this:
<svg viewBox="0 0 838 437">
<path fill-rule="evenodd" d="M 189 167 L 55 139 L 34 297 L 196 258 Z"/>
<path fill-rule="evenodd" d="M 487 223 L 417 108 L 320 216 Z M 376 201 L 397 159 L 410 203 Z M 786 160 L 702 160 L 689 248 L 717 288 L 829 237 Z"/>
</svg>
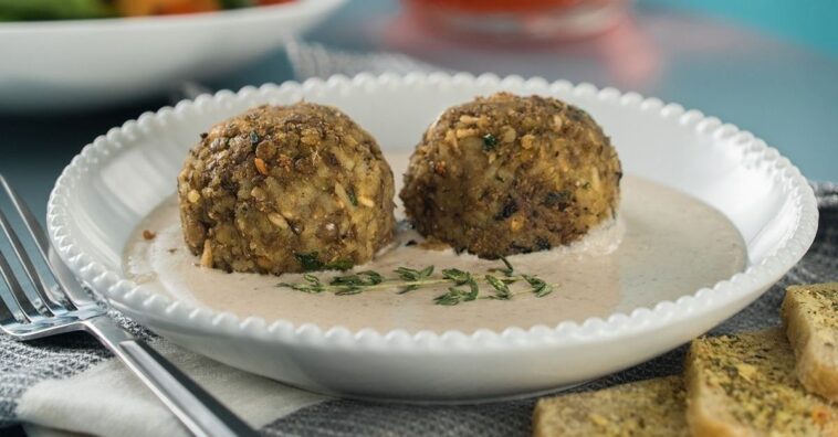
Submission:
<svg viewBox="0 0 838 437">
<path fill-rule="evenodd" d="M 176 363 L 248 424 L 260 428 L 328 397 L 242 372 L 158 339 L 155 349 Z M 28 431 L 56 429 L 121 437 L 189 436 L 125 365 L 108 359 L 63 380 L 45 380 L 18 402 Z M 34 426 L 32 426 L 34 425 Z M 42 429 L 51 428 L 51 429 Z"/>
</svg>

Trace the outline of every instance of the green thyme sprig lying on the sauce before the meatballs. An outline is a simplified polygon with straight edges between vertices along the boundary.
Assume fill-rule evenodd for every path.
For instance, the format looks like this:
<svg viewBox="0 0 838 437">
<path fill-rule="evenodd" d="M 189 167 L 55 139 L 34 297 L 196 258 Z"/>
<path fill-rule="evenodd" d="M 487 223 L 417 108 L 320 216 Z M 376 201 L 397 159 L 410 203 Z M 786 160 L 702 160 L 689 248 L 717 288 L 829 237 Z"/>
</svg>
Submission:
<svg viewBox="0 0 838 437">
<path fill-rule="evenodd" d="M 504 267 L 491 268 L 482 277 L 459 268 L 442 269 L 441 277 L 434 277 L 434 266 L 428 266 L 422 269 L 398 267 L 394 270 L 396 274 L 395 278 L 386 278 L 375 270 L 364 270 L 335 276 L 328 284 L 324 284 L 317 276 L 304 274 L 302 283 L 280 283 L 276 286 L 310 294 L 334 292 L 336 296 L 346 296 L 387 289 L 396 289 L 399 295 L 402 295 L 421 287 L 450 284 L 451 287 L 448 288 L 448 292 L 433 298 L 434 303 L 443 306 L 454 306 L 478 299 L 510 300 L 514 295 L 522 292 L 532 292 L 535 297 L 541 298 L 553 292 L 552 284 L 545 283 L 535 275 L 516 273 L 506 258 L 502 257 L 501 262 L 503 262 Z M 500 273 L 503 276 L 499 277 L 492 275 L 492 273 Z M 510 285 L 522 279 L 530 288 L 513 291 Z M 491 295 L 481 296 L 481 283 L 491 287 Z"/>
</svg>

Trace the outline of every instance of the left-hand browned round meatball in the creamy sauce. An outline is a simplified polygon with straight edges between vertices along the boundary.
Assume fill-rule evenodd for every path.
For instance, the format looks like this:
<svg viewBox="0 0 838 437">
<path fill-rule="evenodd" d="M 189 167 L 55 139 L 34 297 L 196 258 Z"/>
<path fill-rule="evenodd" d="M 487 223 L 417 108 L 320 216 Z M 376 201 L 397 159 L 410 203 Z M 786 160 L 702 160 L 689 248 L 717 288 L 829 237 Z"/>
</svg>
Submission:
<svg viewBox="0 0 838 437">
<path fill-rule="evenodd" d="M 346 269 L 392 238 L 392 171 L 338 109 L 260 106 L 201 134 L 178 175 L 201 265 L 283 274 Z"/>
</svg>

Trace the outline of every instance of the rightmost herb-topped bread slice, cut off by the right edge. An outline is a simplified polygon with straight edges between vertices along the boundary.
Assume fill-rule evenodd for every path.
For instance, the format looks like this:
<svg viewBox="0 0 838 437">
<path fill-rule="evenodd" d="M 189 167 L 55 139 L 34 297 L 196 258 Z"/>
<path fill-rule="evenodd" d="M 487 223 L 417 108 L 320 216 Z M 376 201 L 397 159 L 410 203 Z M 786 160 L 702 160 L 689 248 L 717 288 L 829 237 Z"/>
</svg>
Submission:
<svg viewBox="0 0 838 437">
<path fill-rule="evenodd" d="M 797 379 L 810 392 L 838 401 L 838 283 L 788 287 L 782 313 Z"/>
</svg>

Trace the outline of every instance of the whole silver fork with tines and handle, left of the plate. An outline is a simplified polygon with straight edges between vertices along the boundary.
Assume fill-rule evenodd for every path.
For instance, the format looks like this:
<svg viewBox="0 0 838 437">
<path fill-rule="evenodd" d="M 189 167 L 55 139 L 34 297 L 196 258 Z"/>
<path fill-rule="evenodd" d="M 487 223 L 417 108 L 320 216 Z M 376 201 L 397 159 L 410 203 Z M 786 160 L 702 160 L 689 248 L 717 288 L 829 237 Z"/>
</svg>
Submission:
<svg viewBox="0 0 838 437">
<path fill-rule="evenodd" d="M 189 376 L 142 340 L 107 317 L 106 310 L 86 298 L 81 284 L 57 257 L 50 259 L 50 243 L 29 207 L 0 175 L 0 184 L 43 258 L 54 287 L 35 267 L 6 214 L 0 210 L 0 227 L 9 239 L 24 273 L 21 285 L 14 269 L 0 252 L 0 274 L 7 292 L 0 289 L 0 330 L 22 341 L 71 331 L 85 331 L 118 356 L 180 422 L 197 436 L 258 436 L 244 422 L 221 405 Z"/>
</svg>

